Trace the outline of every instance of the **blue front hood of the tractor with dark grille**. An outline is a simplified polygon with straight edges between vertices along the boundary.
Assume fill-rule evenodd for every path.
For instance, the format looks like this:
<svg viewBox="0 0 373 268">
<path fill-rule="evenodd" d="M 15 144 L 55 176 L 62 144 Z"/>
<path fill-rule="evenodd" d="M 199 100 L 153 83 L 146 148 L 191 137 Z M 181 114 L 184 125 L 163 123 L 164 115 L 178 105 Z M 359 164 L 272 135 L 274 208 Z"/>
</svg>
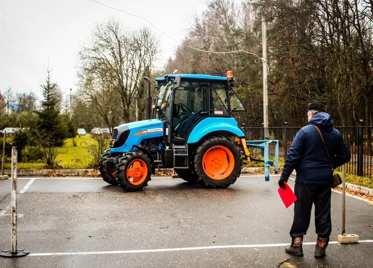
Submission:
<svg viewBox="0 0 373 268">
<path fill-rule="evenodd" d="M 140 145 L 142 140 L 161 136 L 163 136 L 163 122 L 159 119 L 122 124 L 113 130 L 110 151 L 129 152 L 133 145 Z"/>
</svg>

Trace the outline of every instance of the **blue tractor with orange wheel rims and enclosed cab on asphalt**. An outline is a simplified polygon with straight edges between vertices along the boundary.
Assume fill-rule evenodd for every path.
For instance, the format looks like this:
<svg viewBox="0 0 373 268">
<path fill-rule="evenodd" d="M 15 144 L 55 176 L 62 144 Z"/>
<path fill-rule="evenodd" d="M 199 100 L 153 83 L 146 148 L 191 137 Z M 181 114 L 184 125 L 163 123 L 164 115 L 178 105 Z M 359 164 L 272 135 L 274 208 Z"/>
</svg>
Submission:
<svg viewBox="0 0 373 268">
<path fill-rule="evenodd" d="M 157 97 L 147 120 L 113 130 L 110 148 L 99 163 L 103 180 L 127 191 L 147 186 L 156 167 L 174 168 L 187 182 L 226 188 L 250 161 L 245 134 L 233 111 L 245 111 L 233 91 L 235 78 L 202 74 L 168 74 L 156 78 Z M 150 119 L 153 118 L 153 119 Z"/>
</svg>

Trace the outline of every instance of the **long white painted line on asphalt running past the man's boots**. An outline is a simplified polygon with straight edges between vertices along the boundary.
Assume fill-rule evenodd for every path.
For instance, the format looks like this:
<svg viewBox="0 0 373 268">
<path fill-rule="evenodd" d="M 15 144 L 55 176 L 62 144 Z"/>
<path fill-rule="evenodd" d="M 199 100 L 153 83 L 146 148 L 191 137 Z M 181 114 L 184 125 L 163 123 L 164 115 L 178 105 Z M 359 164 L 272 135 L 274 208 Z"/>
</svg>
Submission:
<svg viewBox="0 0 373 268">
<path fill-rule="evenodd" d="M 358 243 L 373 243 L 373 240 L 361 240 Z M 306 242 L 303 245 L 315 245 L 315 242 Z M 330 244 L 340 244 L 337 241 L 329 242 Z M 207 246 L 191 248 L 172 248 L 172 249 L 146 249 L 146 250 L 118 250 L 118 251 L 92 251 L 92 252 L 55 252 L 55 253 L 31 253 L 28 256 L 67 256 L 67 255 L 100 255 L 100 254 L 128 254 L 128 253 L 153 253 L 153 252 L 172 252 L 172 251 L 193 251 L 209 249 L 237 249 L 237 248 L 270 248 L 282 247 L 289 243 L 281 244 L 257 244 L 257 245 L 225 245 L 225 246 Z"/>
</svg>

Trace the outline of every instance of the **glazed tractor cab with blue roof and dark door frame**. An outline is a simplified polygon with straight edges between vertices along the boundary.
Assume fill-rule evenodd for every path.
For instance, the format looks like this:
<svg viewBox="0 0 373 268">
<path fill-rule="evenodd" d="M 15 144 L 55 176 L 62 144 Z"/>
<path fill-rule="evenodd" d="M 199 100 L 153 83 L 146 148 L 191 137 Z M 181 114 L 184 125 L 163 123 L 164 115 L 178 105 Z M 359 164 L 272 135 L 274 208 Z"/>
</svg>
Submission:
<svg viewBox="0 0 373 268">
<path fill-rule="evenodd" d="M 204 118 L 231 118 L 232 111 L 245 111 L 232 90 L 233 74 L 172 74 L 156 81 L 158 97 L 153 115 L 166 123 L 170 143 L 185 142 L 193 127 Z"/>
</svg>

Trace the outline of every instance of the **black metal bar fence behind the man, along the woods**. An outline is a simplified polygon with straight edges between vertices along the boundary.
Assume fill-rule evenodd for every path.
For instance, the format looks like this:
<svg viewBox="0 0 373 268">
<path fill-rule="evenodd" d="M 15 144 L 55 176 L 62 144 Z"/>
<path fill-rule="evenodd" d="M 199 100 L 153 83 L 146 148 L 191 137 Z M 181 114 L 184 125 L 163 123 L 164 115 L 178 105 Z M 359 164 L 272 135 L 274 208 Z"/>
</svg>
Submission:
<svg viewBox="0 0 373 268">
<path fill-rule="evenodd" d="M 343 136 L 351 150 L 351 160 L 346 164 L 346 172 L 353 175 L 372 178 L 373 174 L 373 127 L 359 126 L 355 127 L 335 127 Z M 288 127 L 285 122 L 283 127 L 273 128 L 242 128 L 245 132 L 246 140 L 260 139 L 278 139 L 279 142 L 279 160 L 284 162 L 287 150 L 292 140 L 301 127 Z M 270 157 L 275 156 L 275 146 L 270 145 Z M 253 150 L 252 153 L 260 153 Z"/>
</svg>

